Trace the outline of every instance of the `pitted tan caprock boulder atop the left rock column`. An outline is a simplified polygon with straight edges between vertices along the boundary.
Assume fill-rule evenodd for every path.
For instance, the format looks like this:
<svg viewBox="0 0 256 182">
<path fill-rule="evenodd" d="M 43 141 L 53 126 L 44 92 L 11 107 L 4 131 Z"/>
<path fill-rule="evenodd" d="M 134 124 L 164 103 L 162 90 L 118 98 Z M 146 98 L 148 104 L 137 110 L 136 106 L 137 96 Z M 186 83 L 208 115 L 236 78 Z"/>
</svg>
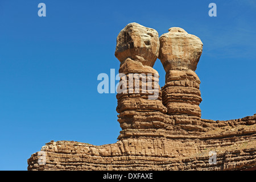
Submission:
<svg viewBox="0 0 256 182">
<path fill-rule="evenodd" d="M 122 63 L 127 58 L 153 67 L 159 53 L 158 32 L 138 23 L 129 23 L 117 36 L 115 56 Z"/>
</svg>

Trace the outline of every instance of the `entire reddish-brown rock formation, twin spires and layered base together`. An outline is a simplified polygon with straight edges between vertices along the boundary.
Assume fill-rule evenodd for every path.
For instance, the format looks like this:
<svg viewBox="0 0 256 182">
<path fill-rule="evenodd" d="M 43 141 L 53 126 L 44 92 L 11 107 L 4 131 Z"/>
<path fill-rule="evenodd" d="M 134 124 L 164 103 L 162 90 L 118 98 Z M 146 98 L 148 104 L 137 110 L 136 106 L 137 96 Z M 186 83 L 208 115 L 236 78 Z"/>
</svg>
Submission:
<svg viewBox="0 0 256 182">
<path fill-rule="evenodd" d="M 28 170 L 243 170 L 256 167 L 256 114 L 242 119 L 201 119 L 195 70 L 203 43 L 182 28 L 158 36 L 127 24 L 117 37 L 118 142 L 46 143 Z M 159 57 L 166 84 L 152 67 Z M 215 152 L 216 163 L 209 154 Z"/>
</svg>

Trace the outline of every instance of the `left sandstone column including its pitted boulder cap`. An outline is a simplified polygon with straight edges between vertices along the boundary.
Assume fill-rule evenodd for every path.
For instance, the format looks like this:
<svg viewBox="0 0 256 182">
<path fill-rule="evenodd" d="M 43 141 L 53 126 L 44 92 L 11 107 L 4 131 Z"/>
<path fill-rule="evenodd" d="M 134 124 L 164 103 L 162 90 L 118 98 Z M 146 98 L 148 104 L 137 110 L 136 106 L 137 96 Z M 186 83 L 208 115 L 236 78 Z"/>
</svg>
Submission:
<svg viewBox="0 0 256 182">
<path fill-rule="evenodd" d="M 158 32 L 138 23 L 118 34 L 115 56 L 120 61 L 117 100 L 118 139 L 159 137 L 166 107 L 162 104 L 159 75 L 153 65 L 159 53 Z"/>
</svg>

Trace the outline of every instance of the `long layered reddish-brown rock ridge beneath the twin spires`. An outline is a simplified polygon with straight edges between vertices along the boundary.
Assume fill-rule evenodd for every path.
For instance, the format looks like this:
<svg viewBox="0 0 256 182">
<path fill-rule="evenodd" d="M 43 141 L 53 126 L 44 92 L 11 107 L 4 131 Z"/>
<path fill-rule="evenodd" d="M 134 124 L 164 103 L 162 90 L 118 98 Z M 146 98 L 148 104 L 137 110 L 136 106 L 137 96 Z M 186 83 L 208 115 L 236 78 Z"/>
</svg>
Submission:
<svg viewBox="0 0 256 182">
<path fill-rule="evenodd" d="M 256 166 L 256 115 L 200 122 L 202 127 L 210 125 L 210 130 L 188 134 L 175 132 L 174 126 L 155 138 L 123 138 L 102 146 L 52 141 L 31 155 L 28 170 L 244 170 Z M 216 151 L 216 164 L 209 164 L 209 151 Z"/>
</svg>

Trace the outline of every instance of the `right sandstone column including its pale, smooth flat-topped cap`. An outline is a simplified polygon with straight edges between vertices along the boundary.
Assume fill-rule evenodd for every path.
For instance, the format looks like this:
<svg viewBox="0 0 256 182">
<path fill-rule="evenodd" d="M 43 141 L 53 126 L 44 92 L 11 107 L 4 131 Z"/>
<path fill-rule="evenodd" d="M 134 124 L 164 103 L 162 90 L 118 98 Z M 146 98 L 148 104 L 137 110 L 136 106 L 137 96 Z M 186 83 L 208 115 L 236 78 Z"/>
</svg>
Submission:
<svg viewBox="0 0 256 182">
<path fill-rule="evenodd" d="M 159 59 L 166 71 L 162 98 L 169 115 L 201 117 L 200 80 L 195 70 L 202 49 L 201 40 L 182 28 L 170 28 L 160 36 Z M 187 122 L 192 120 L 189 118 Z"/>
</svg>

